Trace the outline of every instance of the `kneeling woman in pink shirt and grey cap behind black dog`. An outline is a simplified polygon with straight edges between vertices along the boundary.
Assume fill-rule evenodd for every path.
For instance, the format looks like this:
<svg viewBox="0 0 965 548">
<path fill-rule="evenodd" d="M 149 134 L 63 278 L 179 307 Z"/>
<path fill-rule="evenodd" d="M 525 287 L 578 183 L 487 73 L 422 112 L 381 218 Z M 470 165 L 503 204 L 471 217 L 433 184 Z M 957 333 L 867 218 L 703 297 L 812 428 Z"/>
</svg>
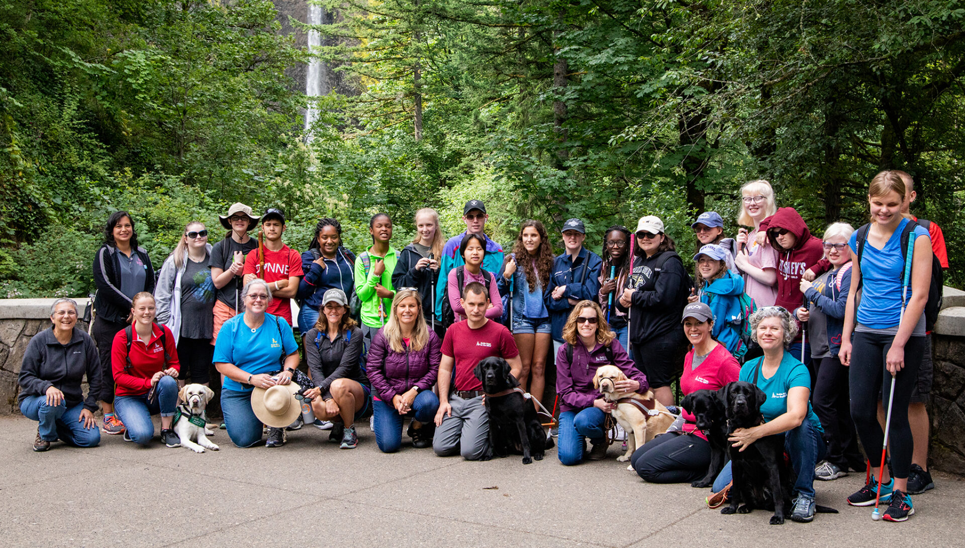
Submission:
<svg viewBox="0 0 965 548">
<path fill-rule="evenodd" d="M 683 309 L 683 334 L 693 344 L 683 359 L 680 391 L 684 396 L 698 390 L 718 390 L 737 380 L 740 365 L 723 344 L 717 342 L 714 316 L 704 303 Z M 675 432 L 660 434 L 630 457 L 641 478 L 653 483 L 694 482 L 703 479 L 710 466 L 710 445 L 697 429 L 693 413 L 684 409 L 683 425 Z M 689 435 L 688 435 L 689 434 Z"/>
</svg>

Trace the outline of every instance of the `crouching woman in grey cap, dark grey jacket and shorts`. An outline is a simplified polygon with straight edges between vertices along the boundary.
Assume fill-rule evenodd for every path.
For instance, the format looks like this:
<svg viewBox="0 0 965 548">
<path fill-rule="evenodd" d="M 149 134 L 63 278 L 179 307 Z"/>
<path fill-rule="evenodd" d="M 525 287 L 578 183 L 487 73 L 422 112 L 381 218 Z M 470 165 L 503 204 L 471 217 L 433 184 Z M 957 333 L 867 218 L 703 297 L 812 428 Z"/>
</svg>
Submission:
<svg viewBox="0 0 965 548">
<path fill-rule="evenodd" d="M 369 377 L 362 356 L 362 330 L 348 315 L 348 297 L 342 289 L 329 289 L 322 298 L 321 315 L 305 334 L 305 359 L 315 388 L 305 391 L 312 398 L 317 419 L 336 421 L 328 441 L 342 443 L 342 449 L 358 445 L 355 419 L 363 417 L 372 401 Z"/>
</svg>

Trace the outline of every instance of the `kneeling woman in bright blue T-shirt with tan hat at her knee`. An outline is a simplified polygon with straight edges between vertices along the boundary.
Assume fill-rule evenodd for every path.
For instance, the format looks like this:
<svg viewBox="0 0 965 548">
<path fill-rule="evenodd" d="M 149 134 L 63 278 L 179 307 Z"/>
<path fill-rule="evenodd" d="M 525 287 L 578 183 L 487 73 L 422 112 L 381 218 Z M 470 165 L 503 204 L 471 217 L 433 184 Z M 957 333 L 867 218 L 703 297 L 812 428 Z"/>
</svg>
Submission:
<svg viewBox="0 0 965 548">
<path fill-rule="evenodd" d="M 214 367 L 225 375 L 221 411 L 232 443 L 240 448 L 262 441 L 262 422 L 251 407 L 255 387 L 271 388 L 291 382 L 298 368 L 298 342 L 283 317 L 264 312 L 271 304 L 271 289 L 256 278 L 241 290 L 244 314 L 235 315 L 218 331 Z M 274 371 L 281 370 L 276 375 Z M 285 444 L 285 428 L 268 428 L 267 447 Z"/>
</svg>

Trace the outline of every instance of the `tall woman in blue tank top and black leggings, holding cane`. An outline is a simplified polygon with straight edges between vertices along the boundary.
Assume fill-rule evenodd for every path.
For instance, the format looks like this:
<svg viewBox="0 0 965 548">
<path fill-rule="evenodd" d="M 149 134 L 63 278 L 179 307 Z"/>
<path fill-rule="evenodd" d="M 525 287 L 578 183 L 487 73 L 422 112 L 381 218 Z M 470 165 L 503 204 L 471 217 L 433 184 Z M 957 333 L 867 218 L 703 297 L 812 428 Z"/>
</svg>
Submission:
<svg viewBox="0 0 965 548">
<path fill-rule="evenodd" d="M 908 403 L 924 357 L 923 313 L 933 257 L 928 231 L 901 214 L 906 192 L 904 180 L 894 171 L 883 171 L 871 179 L 871 222 L 848 239 L 855 266 L 851 268 L 839 353 L 841 364 L 849 367 L 851 417 L 865 454 L 876 455 L 883 445 L 878 402 L 892 408 L 888 436 L 891 470 L 873 466 L 880 466 L 875 458 L 869 483 L 847 499 L 851 506 L 873 505 L 880 482 L 881 502 L 889 504 L 881 516 L 886 521 L 904 521 L 915 513 L 908 496 L 914 449 Z M 864 235 L 860 246 L 859 234 Z M 902 241 L 905 236 L 907 242 Z M 905 247 L 909 244 L 914 246 L 911 253 Z M 861 302 L 855 296 L 858 288 Z M 889 402 L 892 386 L 895 396 Z"/>
</svg>

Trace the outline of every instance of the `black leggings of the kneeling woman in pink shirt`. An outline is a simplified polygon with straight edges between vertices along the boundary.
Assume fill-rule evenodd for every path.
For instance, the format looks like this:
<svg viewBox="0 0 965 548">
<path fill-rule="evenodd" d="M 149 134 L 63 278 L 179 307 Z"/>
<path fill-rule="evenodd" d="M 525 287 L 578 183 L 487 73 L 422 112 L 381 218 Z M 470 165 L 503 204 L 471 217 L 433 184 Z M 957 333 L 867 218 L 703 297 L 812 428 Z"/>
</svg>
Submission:
<svg viewBox="0 0 965 548">
<path fill-rule="evenodd" d="M 630 464 L 651 483 L 690 483 L 707 475 L 710 444 L 694 435 L 668 432 L 637 448 Z"/>
</svg>

